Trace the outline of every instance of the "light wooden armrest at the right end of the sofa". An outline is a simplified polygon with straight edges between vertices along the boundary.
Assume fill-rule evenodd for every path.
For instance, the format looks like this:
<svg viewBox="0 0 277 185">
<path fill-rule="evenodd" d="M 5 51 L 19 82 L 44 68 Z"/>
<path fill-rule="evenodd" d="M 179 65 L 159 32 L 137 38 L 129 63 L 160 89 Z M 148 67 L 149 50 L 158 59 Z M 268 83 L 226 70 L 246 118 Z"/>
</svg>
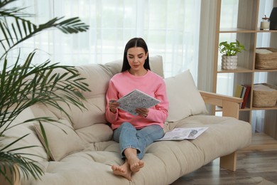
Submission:
<svg viewBox="0 0 277 185">
<path fill-rule="evenodd" d="M 219 95 L 200 90 L 205 103 L 222 107 L 222 116 L 229 116 L 239 119 L 239 104 L 242 98 L 227 95 Z"/>
</svg>

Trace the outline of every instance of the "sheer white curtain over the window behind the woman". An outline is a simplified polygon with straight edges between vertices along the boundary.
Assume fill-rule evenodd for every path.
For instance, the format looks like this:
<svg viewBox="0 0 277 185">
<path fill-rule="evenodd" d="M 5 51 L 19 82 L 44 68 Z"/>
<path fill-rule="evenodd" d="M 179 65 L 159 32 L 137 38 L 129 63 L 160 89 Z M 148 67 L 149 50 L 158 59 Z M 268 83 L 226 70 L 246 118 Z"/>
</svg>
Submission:
<svg viewBox="0 0 277 185">
<path fill-rule="evenodd" d="M 190 69 L 197 81 L 200 0 L 45 0 L 16 1 L 36 14 L 35 23 L 53 17 L 78 16 L 89 31 L 66 35 L 45 31 L 24 43 L 23 52 L 39 48 L 37 61 L 82 65 L 123 58 L 124 46 L 133 37 L 148 43 L 149 55 L 163 56 L 165 77 Z M 22 52 L 21 51 L 21 52 Z"/>
</svg>

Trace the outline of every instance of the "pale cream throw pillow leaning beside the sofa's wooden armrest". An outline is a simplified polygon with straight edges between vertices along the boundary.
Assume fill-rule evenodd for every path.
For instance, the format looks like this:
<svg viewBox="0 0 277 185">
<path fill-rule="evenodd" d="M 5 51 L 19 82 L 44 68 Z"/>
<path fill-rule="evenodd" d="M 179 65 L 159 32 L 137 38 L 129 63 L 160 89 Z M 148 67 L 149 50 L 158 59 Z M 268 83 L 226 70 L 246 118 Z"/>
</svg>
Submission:
<svg viewBox="0 0 277 185">
<path fill-rule="evenodd" d="M 165 78 L 169 110 L 167 122 L 183 120 L 207 112 L 205 102 L 195 86 L 190 70 Z"/>
</svg>

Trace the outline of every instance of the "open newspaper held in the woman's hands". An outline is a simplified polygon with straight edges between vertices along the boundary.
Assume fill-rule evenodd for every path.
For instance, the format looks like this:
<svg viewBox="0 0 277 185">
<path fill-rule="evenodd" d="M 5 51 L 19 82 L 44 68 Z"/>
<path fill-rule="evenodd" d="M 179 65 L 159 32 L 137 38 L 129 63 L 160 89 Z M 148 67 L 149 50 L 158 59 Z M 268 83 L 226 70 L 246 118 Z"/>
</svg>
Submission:
<svg viewBox="0 0 277 185">
<path fill-rule="evenodd" d="M 136 108 L 150 108 L 161 101 L 136 89 L 121 97 L 117 102 L 119 102 L 119 109 L 129 112 L 131 115 L 138 115 Z"/>
</svg>

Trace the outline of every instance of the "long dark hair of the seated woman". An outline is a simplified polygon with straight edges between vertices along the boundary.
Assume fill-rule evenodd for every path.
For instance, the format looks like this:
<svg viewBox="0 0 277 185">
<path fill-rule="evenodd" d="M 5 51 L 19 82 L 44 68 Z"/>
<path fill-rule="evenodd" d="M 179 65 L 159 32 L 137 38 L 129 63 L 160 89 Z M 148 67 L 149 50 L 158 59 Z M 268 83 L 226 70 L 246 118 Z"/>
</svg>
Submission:
<svg viewBox="0 0 277 185">
<path fill-rule="evenodd" d="M 122 65 L 121 72 L 124 72 L 125 70 L 129 70 L 131 68 L 127 59 L 127 51 L 129 50 L 129 48 L 136 48 L 136 47 L 141 47 L 144 49 L 145 53 L 148 53 L 148 48 L 143 38 L 132 38 L 128 43 L 126 43 L 126 46 L 124 49 L 123 65 Z M 149 53 L 143 67 L 148 70 L 151 70 L 149 65 Z"/>
</svg>

